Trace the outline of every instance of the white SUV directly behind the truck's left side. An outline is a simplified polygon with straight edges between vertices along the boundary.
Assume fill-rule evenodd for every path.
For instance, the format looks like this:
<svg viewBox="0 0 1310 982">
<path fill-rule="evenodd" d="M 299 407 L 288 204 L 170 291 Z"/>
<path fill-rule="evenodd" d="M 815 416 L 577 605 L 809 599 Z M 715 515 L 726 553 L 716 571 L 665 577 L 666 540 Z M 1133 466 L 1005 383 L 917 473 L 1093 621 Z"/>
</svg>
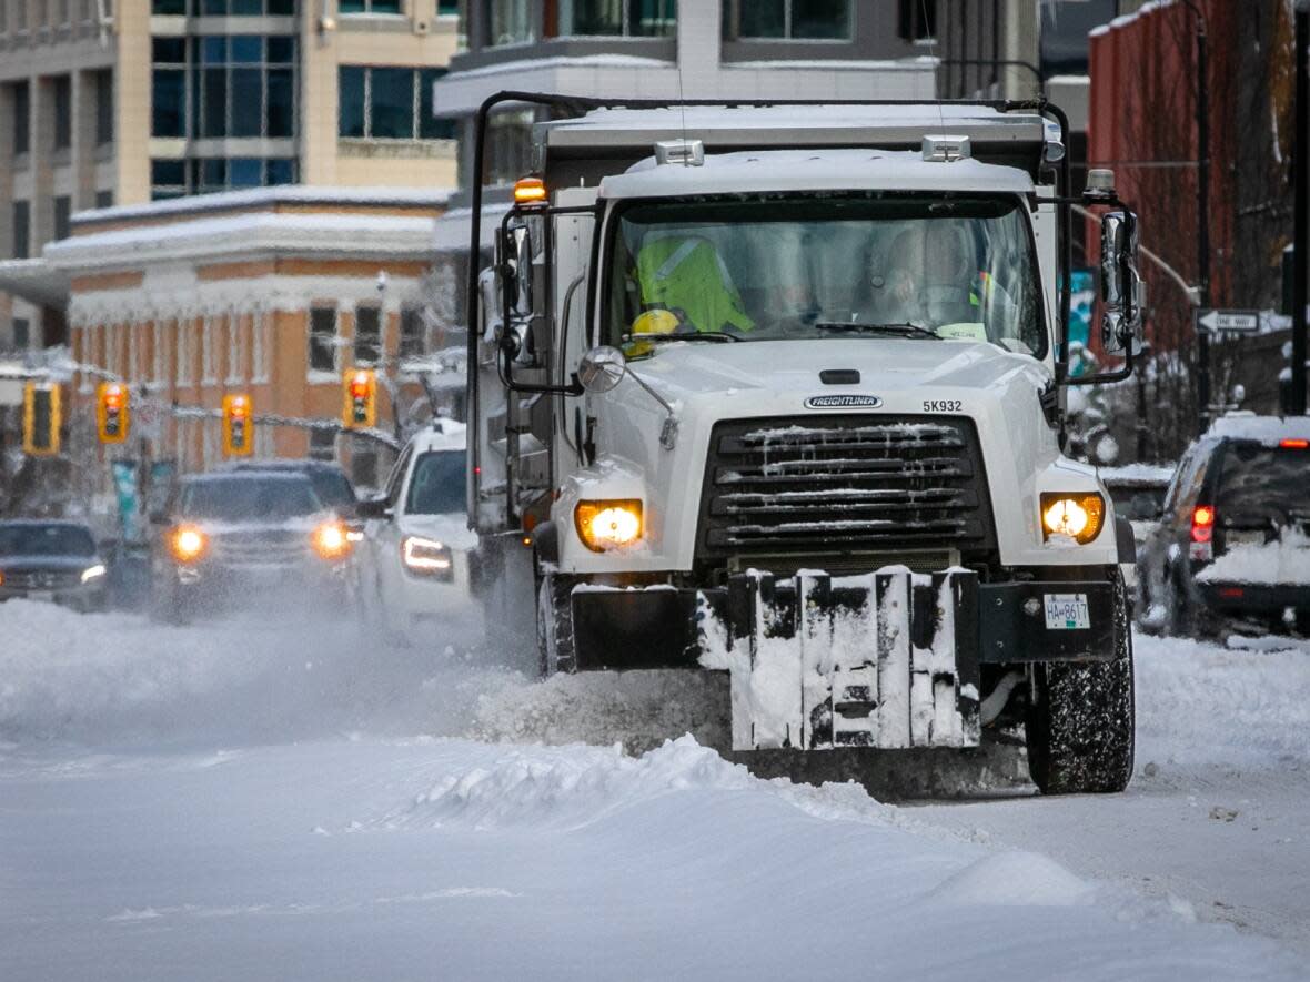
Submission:
<svg viewBox="0 0 1310 982">
<path fill-rule="evenodd" d="M 464 424 L 438 419 L 406 444 L 386 490 L 360 503 L 368 546 L 362 601 L 397 635 L 470 609 L 477 538 L 465 517 L 465 483 Z"/>
</svg>

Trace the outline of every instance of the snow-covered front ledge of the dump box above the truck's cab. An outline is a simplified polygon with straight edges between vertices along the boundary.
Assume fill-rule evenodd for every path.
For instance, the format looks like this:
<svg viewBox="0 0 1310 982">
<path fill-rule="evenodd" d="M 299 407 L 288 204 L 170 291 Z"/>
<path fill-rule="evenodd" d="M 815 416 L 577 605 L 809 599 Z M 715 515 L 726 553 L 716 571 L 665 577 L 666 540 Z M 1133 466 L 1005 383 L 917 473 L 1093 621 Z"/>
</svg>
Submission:
<svg viewBox="0 0 1310 982">
<path fill-rule="evenodd" d="M 979 144 L 1045 141 L 1036 113 L 1001 113 L 976 103 L 916 102 L 863 106 L 668 106 L 596 109 L 582 117 L 540 123 L 552 151 L 650 145 L 685 136 L 707 147 L 907 145 L 925 134 L 959 134 Z"/>
</svg>

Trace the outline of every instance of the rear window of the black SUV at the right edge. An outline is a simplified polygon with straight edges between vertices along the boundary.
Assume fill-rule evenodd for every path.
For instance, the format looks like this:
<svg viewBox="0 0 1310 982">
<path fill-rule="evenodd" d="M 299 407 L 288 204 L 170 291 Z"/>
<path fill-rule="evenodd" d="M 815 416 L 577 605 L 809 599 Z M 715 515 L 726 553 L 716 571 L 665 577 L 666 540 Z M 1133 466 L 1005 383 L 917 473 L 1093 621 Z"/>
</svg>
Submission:
<svg viewBox="0 0 1310 982">
<path fill-rule="evenodd" d="M 1272 518 L 1279 525 L 1310 516 L 1310 450 L 1233 441 L 1214 492 L 1221 518 Z"/>
</svg>

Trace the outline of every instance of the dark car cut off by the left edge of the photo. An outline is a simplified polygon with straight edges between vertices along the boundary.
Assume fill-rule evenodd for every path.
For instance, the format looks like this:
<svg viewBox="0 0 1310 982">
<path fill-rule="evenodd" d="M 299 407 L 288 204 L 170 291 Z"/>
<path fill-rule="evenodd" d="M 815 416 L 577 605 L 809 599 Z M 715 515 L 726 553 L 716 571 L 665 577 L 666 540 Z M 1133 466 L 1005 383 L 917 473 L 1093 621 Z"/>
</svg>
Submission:
<svg viewBox="0 0 1310 982">
<path fill-rule="evenodd" d="M 0 521 L 0 601 L 22 597 L 103 610 L 105 572 L 96 537 L 81 522 Z"/>
</svg>

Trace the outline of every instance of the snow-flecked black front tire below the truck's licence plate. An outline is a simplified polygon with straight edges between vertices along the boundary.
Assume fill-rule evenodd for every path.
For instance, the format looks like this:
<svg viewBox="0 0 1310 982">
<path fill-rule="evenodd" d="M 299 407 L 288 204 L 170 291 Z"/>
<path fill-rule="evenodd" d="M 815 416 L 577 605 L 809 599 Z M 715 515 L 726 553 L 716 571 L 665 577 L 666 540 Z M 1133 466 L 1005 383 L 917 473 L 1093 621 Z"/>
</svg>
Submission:
<svg viewBox="0 0 1310 982">
<path fill-rule="evenodd" d="M 1133 642 L 1123 580 L 1115 589 L 1115 657 L 1032 666 L 1024 737 L 1043 795 L 1115 793 L 1133 775 Z"/>
</svg>

